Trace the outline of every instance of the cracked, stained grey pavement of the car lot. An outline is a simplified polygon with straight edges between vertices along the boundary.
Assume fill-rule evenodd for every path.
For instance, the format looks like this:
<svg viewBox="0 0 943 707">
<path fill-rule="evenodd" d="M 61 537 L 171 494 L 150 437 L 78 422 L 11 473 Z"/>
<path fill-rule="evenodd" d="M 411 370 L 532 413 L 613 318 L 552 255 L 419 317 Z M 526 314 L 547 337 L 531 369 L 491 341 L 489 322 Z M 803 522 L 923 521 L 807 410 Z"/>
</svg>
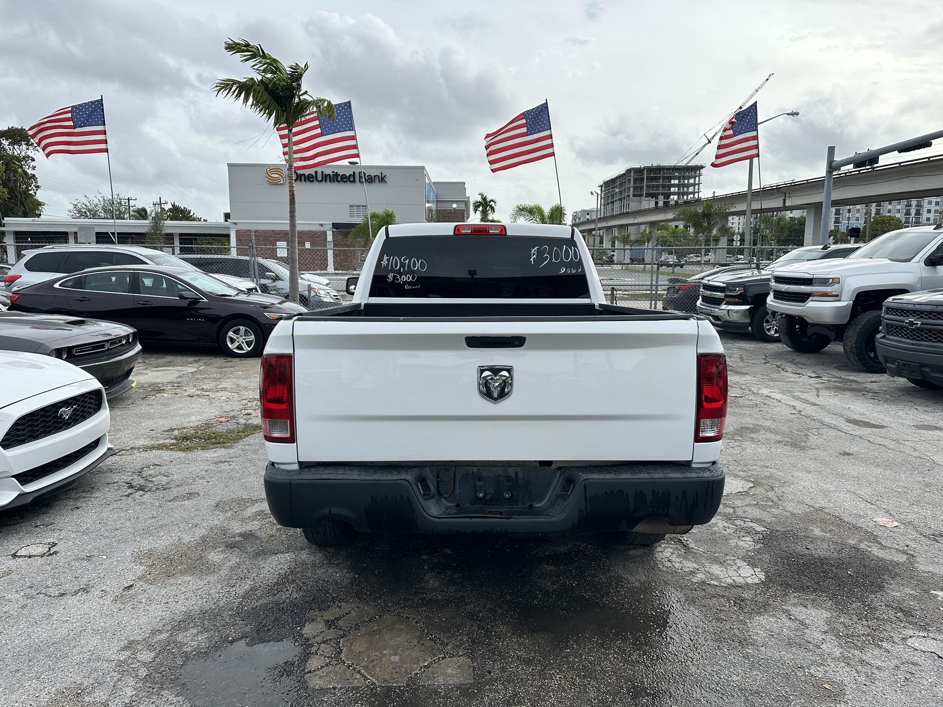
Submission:
<svg viewBox="0 0 943 707">
<path fill-rule="evenodd" d="M 940 705 L 943 393 L 724 341 L 720 515 L 654 549 L 313 548 L 265 505 L 258 360 L 147 352 L 120 453 L 0 513 L 0 704 Z"/>
</svg>

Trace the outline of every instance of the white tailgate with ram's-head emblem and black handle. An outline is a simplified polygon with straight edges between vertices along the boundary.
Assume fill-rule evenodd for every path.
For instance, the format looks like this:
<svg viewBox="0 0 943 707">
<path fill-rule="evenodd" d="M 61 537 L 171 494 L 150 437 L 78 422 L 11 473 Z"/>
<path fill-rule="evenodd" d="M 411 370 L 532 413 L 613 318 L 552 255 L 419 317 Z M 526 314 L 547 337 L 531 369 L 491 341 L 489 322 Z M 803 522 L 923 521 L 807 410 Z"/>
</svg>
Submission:
<svg viewBox="0 0 943 707">
<path fill-rule="evenodd" d="M 691 319 L 295 321 L 293 337 L 301 462 L 692 457 Z M 486 399 L 479 367 L 510 394 Z"/>
</svg>

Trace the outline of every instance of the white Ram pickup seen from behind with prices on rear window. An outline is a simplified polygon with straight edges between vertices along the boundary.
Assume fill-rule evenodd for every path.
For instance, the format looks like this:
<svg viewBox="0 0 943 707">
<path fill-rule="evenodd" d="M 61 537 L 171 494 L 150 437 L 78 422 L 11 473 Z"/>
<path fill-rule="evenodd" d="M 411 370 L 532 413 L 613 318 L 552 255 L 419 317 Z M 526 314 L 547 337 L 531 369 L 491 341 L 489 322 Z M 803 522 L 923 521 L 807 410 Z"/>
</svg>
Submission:
<svg viewBox="0 0 943 707">
<path fill-rule="evenodd" d="M 352 304 L 280 321 L 260 372 L 281 525 L 609 532 L 714 517 L 727 369 L 693 314 L 605 304 L 570 226 L 384 228 Z"/>
</svg>

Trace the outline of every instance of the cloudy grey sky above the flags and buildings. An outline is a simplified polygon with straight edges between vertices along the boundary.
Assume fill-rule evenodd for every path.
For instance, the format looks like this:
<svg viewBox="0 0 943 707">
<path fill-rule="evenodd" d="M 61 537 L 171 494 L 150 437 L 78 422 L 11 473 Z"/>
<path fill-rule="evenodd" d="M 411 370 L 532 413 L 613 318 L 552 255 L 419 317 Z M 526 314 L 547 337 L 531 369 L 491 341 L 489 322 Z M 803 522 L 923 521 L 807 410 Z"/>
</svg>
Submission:
<svg viewBox="0 0 943 707">
<path fill-rule="evenodd" d="M 767 183 L 821 173 L 829 144 L 848 156 L 943 128 L 943 15 L 933 1 L 260 7 L 0 0 L 0 124 L 29 125 L 103 94 L 116 191 L 139 206 L 173 200 L 210 221 L 228 210 L 226 162 L 280 158 L 261 119 L 210 91 L 218 77 L 245 75 L 223 52 L 226 37 L 307 61 L 308 90 L 352 100 L 366 163 L 424 164 L 433 179 L 487 191 L 499 216 L 556 201 L 552 160 L 491 174 L 483 149 L 486 132 L 544 98 L 569 210 L 592 206 L 589 190 L 626 166 L 677 161 L 769 73 L 760 119 L 802 115 L 760 128 Z M 699 161 L 711 156 L 708 147 Z M 37 164 L 47 216 L 108 191 L 105 156 Z M 703 186 L 744 189 L 746 166 L 707 168 Z"/>
</svg>

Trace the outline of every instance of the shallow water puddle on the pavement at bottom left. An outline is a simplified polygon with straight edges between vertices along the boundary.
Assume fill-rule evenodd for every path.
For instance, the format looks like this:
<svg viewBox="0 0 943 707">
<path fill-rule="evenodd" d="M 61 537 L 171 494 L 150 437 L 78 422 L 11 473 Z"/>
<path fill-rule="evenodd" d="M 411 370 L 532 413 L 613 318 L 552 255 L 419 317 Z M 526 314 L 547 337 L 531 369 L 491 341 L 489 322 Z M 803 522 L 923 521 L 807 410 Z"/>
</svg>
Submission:
<svg viewBox="0 0 943 707">
<path fill-rule="evenodd" d="M 244 640 L 184 664 L 181 680 L 193 707 L 234 707 L 234 705 L 290 705 L 296 683 L 280 675 L 277 666 L 295 660 L 298 648 L 293 641 L 256 643 Z"/>
</svg>

